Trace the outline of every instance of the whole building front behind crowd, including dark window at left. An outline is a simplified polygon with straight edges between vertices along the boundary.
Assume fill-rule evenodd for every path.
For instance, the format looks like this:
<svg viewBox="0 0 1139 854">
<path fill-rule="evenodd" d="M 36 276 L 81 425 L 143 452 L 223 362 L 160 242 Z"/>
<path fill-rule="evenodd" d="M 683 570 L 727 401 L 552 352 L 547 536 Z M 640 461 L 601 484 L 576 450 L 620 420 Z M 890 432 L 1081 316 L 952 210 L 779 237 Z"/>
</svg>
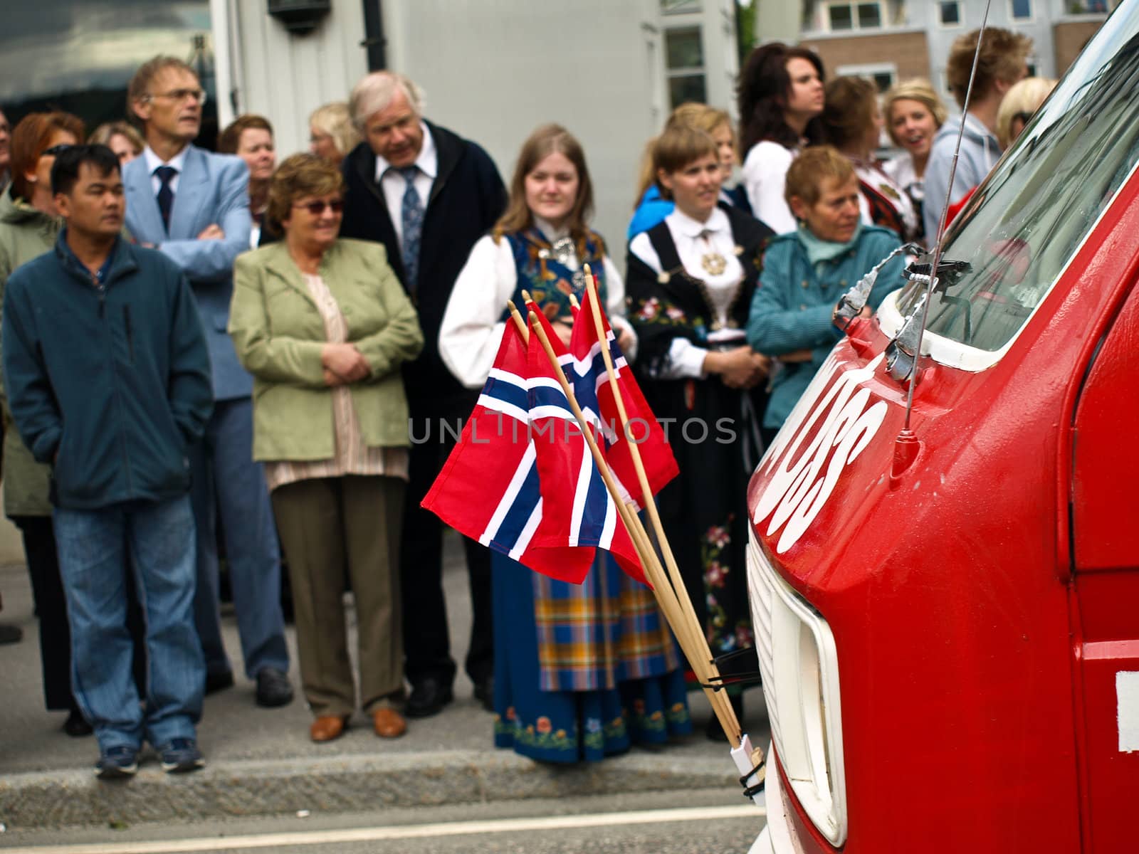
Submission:
<svg viewBox="0 0 1139 854">
<path fill-rule="evenodd" d="M 198 145 L 240 113 L 272 122 L 281 156 L 309 114 L 392 68 L 427 115 L 482 143 L 503 176 L 526 136 L 559 122 L 584 145 L 595 225 L 622 257 L 641 153 L 673 106 L 731 108 L 736 0 L 36 0 L 0 28 L 0 107 L 64 108 L 92 129 L 125 117 L 155 54 L 188 59 L 208 100 Z M 298 15 L 311 15 L 300 20 Z M 290 28 L 292 26 L 292 28 Z"/>
</svg>

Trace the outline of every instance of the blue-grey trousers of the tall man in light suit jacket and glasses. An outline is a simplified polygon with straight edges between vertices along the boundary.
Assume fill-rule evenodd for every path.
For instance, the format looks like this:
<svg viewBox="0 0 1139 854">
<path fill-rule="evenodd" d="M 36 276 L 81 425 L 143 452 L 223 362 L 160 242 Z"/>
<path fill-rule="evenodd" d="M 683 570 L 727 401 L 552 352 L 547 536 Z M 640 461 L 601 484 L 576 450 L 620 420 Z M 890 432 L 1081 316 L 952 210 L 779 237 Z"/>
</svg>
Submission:
<svg viewBox="0 0 1139 854">
<path fill-rule="evenodd" d="M 194 624 L 206 671 L 215 675 L 230 671 L 218 602 L 220 518 L 245 675 L 254 679 L 264 667 L 288 673 L 280 548 L 264 471 L 253 461 L 252 401 L 215 401 L 205 437 L 190 447 L 189 457 L 198 542 Z"/>
</svg>

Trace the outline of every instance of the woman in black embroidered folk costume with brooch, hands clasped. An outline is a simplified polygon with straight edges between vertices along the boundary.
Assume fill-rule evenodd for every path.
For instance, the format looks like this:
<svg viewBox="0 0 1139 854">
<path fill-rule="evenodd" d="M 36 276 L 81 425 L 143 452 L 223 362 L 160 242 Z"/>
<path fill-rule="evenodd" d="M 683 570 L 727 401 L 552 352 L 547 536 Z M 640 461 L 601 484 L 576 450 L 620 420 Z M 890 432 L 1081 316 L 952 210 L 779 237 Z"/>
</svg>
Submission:
<svg viewBox="0 0 1139 854">
<path fill-rule="evenodd" d="M 769 362 L 744 340 L 744 326 L 771 229 L 720 204 L 723 172 L 707 133 L 665 131 L 653 162 L 675 210 L 629 245 L 637 372 L 653 412 L 673 425 L 680 477 L 661 491 L 661 518 L 712 655 L 720 656 L 752 646 L 744 495 L 762 450 Z M 749 659 L 721 672 L 755 671 Z M 730 696 L 740 714 L 741 695 Z M 722 738 L 714 717 L 708 736 Z"/>
</svg>

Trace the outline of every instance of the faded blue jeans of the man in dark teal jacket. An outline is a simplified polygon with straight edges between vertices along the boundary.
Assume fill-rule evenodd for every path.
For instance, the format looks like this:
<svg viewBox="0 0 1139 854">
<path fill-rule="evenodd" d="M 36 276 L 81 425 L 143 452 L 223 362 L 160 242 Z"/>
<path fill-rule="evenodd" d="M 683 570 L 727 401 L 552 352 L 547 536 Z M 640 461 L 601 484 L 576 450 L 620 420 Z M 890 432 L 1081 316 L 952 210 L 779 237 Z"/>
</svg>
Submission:
<svg viewBox="0 0 1139 854">
<path fill-rule="evenodd" d="M 72 633 L 72 690 L 99 748 L 194 738 L 205 665 L 194 629 L 194 514 L 188 496 L 55 511 Z M 129 550 L 129 556 L 128 556 Z M 131 676 L 126 573 L 146 621 L 146 714 Z"/>
</svg>

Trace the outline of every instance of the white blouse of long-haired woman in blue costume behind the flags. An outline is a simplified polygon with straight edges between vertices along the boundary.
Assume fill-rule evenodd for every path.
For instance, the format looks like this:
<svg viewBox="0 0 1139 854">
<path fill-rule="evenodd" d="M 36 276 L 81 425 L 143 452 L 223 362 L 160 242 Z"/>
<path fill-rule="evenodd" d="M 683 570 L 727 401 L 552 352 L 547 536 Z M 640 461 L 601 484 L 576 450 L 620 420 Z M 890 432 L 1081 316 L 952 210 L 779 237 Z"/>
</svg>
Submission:
<svg viewBox="0 0 1139 854">
<path fill-rule="evenodd" d="M 550 243 L 566 236 L 555 233 L 547 223 L 539 222 L 538 225 Z M 632 327 L 625 320 L 624 279 L 608 255 L 603 263 L 607 296 L 605 310 L 609 323 L 617 336 L 622 331 L 632 334 Z M 495 243 L 490 235 L 480 238 L 454 280 L 439 330 L 440 356 L 467 388 L 481 388 L 490 376 L 506 327 L 500 318 L 517 286 L 518 269 L 510 243 L 505 237 Z M 522 311 L 521 305 L 518 310 Z M 636 355 L 634 336 L 632 345 L 625 348 L 625 358 L 632 361 Z"/>
</svg>

